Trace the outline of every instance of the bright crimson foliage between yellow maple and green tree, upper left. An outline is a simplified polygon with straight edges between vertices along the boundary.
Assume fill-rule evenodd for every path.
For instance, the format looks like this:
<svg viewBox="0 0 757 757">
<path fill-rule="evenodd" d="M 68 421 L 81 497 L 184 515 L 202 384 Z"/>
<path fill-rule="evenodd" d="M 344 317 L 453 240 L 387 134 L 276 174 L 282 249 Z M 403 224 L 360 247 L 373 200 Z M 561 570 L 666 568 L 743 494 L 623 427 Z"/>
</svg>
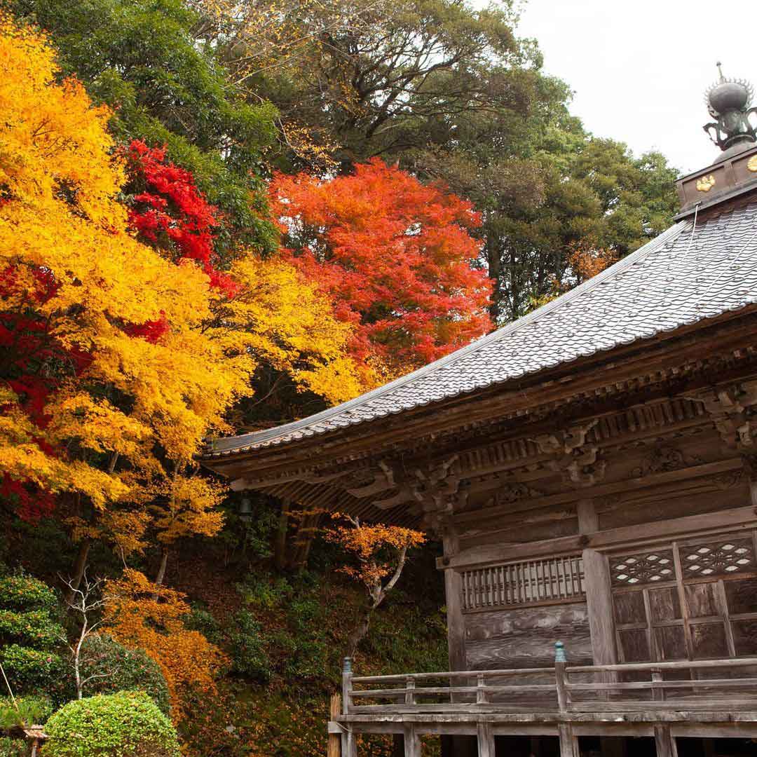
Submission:
<svg viewBox="0 0 757 757">
<path fill-rule="evenodd" d="M 165 148 L 149 148 L 139 139 L 132 141 L 126 156 L 132 182 L 143 187 L 132 197 L 132 228 L 175 263 L 195 260 L 211 286 L 233 297 L 237 286 L 214 264 L 218 209 L 204 198 L 192 173 L 167 161 Z"/>
</svg>

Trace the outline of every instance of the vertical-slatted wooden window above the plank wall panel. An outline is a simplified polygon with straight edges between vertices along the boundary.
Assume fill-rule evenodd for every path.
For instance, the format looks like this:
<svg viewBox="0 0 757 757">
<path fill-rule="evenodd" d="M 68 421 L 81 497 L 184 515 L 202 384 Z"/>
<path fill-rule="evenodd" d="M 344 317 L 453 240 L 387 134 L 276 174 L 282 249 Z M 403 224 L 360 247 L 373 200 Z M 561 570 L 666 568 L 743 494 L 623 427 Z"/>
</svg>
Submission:
<svg viewBox="0 0 757 757">
<path fill-rule="evenodd" d="M 463 609 L 484 609 L 584 597 L 578 555 L 511 562 L 463 572 Z"/>
</svg>

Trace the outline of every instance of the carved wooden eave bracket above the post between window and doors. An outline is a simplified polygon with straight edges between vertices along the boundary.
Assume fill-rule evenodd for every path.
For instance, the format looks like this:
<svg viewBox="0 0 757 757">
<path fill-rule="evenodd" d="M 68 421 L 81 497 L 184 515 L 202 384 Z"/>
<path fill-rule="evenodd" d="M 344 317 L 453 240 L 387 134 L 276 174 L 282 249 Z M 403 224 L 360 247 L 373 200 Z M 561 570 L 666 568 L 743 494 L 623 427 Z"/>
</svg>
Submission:
<svg viewBox="0 0 757 757">
<path fill-rule="evenodd" d="M 603 481 L 606 462 L 599 459 L 600 448 L 587 444 L 589 431 L 597 425 L 595 418 L 554 434 L 540 434 L 534 438 L 542 454 L 549 455 L 547 465 L 562 473 L 562 478 L 578 487 L 593 486 Z"/>
</svg>

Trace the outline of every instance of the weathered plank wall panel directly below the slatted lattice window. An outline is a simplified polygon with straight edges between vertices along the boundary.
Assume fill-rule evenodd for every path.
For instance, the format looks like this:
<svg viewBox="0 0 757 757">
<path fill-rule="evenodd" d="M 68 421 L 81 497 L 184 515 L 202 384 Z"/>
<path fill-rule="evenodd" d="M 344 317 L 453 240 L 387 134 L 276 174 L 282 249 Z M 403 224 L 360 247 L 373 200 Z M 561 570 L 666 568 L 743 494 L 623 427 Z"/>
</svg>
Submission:
<svg viewBox="0 0 757 757">
<path fill-rule="evenodd" d="M 469 670 L 550 667 L 558 640 L 570 662 L 592 663 L 586 603 L 471 612 L 465 621 Z"/>
</svg>

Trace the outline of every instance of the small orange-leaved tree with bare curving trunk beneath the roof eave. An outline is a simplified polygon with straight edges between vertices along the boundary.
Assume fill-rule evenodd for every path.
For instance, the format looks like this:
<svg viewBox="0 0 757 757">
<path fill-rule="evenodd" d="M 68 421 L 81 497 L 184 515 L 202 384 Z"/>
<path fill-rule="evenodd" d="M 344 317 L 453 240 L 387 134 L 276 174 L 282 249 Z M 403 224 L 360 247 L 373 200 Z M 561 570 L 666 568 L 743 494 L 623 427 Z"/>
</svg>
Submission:
<svg viewBox="0 0 757 757">
<path fill-rule="evenodd" d="M 397 585 L 407 563 L 407 552 L 425 543 L 422 531 L 384 523 L 366 524 L 357 517 L 335 513 L 341 523 L 325 531 L 326 540 L 338 544 L 354 560 L 354 565 L 343 565 L 339 572 L 363 585 L 367 604 L 350 634 L 347 650 L 354 656 L 357 646 L 368 634 L 373 611 Z M 385 579 L 388 578 L 388 581 Z"/>
</svg>

